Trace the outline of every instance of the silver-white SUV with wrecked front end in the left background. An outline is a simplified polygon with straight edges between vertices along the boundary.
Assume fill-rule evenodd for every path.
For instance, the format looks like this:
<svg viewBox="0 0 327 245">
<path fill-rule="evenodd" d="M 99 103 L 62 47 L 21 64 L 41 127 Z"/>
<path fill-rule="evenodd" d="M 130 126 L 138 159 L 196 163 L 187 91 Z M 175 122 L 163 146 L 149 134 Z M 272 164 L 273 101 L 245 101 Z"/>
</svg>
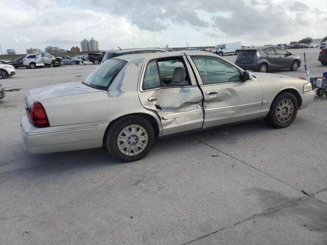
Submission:
<svg viewBox="0 0 327 245">
<path fill-rule="evenodd" d="M 38 54 L 29 54 L 22 59 L 22 64 L 27 68 L 34 69 L 36 67 L 52 66 L 52 62 L 55 57 L 52 55 L 42 52 Z"/>
</svg>

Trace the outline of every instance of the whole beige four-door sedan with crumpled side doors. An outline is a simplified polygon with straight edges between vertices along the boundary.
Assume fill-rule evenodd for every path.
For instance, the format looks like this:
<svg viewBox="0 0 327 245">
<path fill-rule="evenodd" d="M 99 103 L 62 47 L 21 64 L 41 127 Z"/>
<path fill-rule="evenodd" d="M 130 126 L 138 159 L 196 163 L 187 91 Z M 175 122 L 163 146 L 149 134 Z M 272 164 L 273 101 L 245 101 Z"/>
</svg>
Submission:
<svg viewBox="0 0 327 245">
<path fill-rule="evenodd" d="M 100 148 L 121 161 L 145 157 L 155 139 L 265 118 L 288 127 L 314 99 L 311 83 L 253 74 L 208 52 L 125 55 L 83 82 L 31 90 L 21 134 L 31 153 Z"/>
</svg>

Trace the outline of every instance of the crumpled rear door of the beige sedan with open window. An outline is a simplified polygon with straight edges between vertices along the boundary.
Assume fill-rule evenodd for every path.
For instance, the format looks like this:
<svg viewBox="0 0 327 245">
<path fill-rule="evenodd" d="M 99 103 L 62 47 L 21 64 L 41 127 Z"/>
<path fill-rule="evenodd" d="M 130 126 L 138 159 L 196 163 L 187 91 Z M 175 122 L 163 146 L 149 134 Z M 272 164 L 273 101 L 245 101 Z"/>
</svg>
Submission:
<svg viewBox="0 0 327 245">
<path fill-rule="evenodd" d="M 162 135 L 200 129 L 203 96 L 183 56 L 146 62 L 139 87 L 142 105 L 160 117 Z"/>
</svg>

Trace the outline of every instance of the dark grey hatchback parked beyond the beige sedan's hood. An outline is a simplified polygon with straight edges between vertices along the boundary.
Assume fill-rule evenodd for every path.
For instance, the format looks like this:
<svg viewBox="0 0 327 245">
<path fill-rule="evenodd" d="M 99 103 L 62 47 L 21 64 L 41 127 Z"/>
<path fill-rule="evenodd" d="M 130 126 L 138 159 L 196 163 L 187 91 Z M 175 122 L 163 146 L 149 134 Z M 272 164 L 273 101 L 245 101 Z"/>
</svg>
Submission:
<svg viewBox="0 0 327 245">
<path fill-rule="evenodd" d="M 245 70 L 266 72 L 272 69 L 297 70 L 301 66 L 298 55 L 280 47 L 248 47 L 240 51 L 235 64 Z"/>
</svg>

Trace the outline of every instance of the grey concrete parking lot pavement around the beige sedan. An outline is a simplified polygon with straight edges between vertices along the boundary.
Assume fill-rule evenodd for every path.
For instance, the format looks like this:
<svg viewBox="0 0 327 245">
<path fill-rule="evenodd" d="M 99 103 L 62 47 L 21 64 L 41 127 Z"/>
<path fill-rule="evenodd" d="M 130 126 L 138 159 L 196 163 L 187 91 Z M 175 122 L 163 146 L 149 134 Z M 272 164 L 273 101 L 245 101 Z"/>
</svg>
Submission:
<svg viewBox="0 0 327 245">
<path fill-rule="evenodd" d="M 327 71 L 318 49 L 305 52 L 312 76 Z M 303 76 L 303 66 L 274 73 Z M 325 96 L 289 128 L 256 121 L 168 138 L 133 163 L 106 148 L 27 153 L 28 90 L 95 67 L 18 69 L 1 81 L 21 90 L 0 101 L 0 244 L 327 244 Z"/>
</svg>

